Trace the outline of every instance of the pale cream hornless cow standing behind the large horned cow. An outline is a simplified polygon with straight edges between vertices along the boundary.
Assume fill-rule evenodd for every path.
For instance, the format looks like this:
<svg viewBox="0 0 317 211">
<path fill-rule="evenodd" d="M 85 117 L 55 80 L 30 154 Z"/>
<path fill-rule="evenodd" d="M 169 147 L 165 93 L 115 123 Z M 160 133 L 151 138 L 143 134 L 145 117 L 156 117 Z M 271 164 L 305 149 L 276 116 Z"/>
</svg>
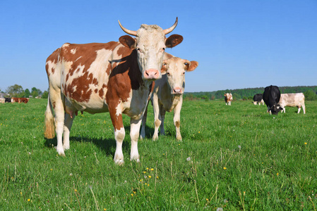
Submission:
<svg viewBox="0 0 317 211">
<path fill-rule="evenodd" d="M 165 53 L 168 54 L 168 53 Z M 174 110 L 174 126 L 176 128 L 176 138 L 181 140 L 180 117 L 181 106 L 183 103 L 183 94 L 185 89 L 185 72 L 191 72 L 198 67 L 195 60 L 189 61 L 168 54 L 169 58 L 163 61 L 162 78 L 155 81 L 154 90 L 152 91 L 150 101 L 152 101 L 154 111 L 155 131 L 152 140 L 158 139 L 158 129 L 160 133 L 165 134 L 164 120 L 165 113 Z M 145 123 L 147 110 L 143 115 L 140 138 L 145 137 Z"/>
</svg>

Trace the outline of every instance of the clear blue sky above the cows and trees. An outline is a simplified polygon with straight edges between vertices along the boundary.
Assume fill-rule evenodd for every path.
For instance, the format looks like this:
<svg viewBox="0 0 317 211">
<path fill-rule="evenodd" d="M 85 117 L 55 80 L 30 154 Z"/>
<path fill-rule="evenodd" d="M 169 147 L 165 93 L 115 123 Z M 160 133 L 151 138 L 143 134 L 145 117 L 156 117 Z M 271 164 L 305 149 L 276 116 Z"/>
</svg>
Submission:
<svg viewBox="0 0 317 211">
<path fill-rule="evenodd" d="M 197 60 L 185 91 L 317 85 L 317 1 L 0 1 L 0 89 L 47 90 L 45 60 L 65 42 L 118 41 L 118 24 L 170 27 L 167 53 Z M 168 34 L 169 35 L 169 34 Z"/>
</svg>

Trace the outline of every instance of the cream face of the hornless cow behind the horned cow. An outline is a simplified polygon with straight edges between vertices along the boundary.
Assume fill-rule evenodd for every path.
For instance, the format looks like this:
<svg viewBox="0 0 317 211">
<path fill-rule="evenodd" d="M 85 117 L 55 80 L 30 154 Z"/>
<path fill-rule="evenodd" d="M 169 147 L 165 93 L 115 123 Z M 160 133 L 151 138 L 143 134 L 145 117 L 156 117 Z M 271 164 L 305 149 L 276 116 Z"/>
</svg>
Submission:
<svg viewBox="0 0 317 211">
<path fill-rule="evenodd" d="M 169 58 L 163 61 L 161 72 L 167 77 L 167 84 L 171 89 L 171 94 L 184 94 L 185 72 L 191 72 L 198 67 L 195 60 L 189 61 L 178 57 Z"/>
</svg>

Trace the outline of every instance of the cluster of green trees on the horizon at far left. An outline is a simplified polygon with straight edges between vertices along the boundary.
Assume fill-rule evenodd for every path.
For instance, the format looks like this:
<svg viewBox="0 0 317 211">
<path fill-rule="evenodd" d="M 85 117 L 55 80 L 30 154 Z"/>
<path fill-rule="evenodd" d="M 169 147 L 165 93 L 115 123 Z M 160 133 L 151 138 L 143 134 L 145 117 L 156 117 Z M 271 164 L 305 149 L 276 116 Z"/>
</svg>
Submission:
<svg viewBox="0 0 317 211">
<path fill-rule="evenodd" d="M 23 87 L 18 84 L 14 84 L 13 86 L 8 87 L 6 89 L 6 92 L 1 91 L 1 93 L 6 93 L 7 95 L 5 97 L 11 98 L 29 98 L 30 96 L 32 98 L 48 98 L 49 96 L 48 91 L 42 92 L 40 89 L 37 89 L 36 87 L 32 87 L 30 91 L 30 89 L 23 89 Z"/>
</svg>

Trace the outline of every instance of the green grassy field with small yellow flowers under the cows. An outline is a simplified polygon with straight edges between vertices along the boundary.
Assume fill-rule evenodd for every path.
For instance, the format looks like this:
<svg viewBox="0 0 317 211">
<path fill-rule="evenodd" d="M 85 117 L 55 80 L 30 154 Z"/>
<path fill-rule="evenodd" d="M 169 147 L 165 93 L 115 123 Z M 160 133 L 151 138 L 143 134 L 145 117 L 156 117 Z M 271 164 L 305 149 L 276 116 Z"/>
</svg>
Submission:
<svg viewBox="0 0 317 211">
<path fill-rule="evenodd" d="M 76 117 L 71 149 L 44 139 L 47 101 L 0 104 L 0 210 L 316 210 L 317 102 L 268 115 L 251 101 L 185 101 L 181 135 L 172 113 L 166 136 L 139 141 L 130 162 L 124 117 L 123 166 L 114 164 L 109 113 Z"/>
</svg>

